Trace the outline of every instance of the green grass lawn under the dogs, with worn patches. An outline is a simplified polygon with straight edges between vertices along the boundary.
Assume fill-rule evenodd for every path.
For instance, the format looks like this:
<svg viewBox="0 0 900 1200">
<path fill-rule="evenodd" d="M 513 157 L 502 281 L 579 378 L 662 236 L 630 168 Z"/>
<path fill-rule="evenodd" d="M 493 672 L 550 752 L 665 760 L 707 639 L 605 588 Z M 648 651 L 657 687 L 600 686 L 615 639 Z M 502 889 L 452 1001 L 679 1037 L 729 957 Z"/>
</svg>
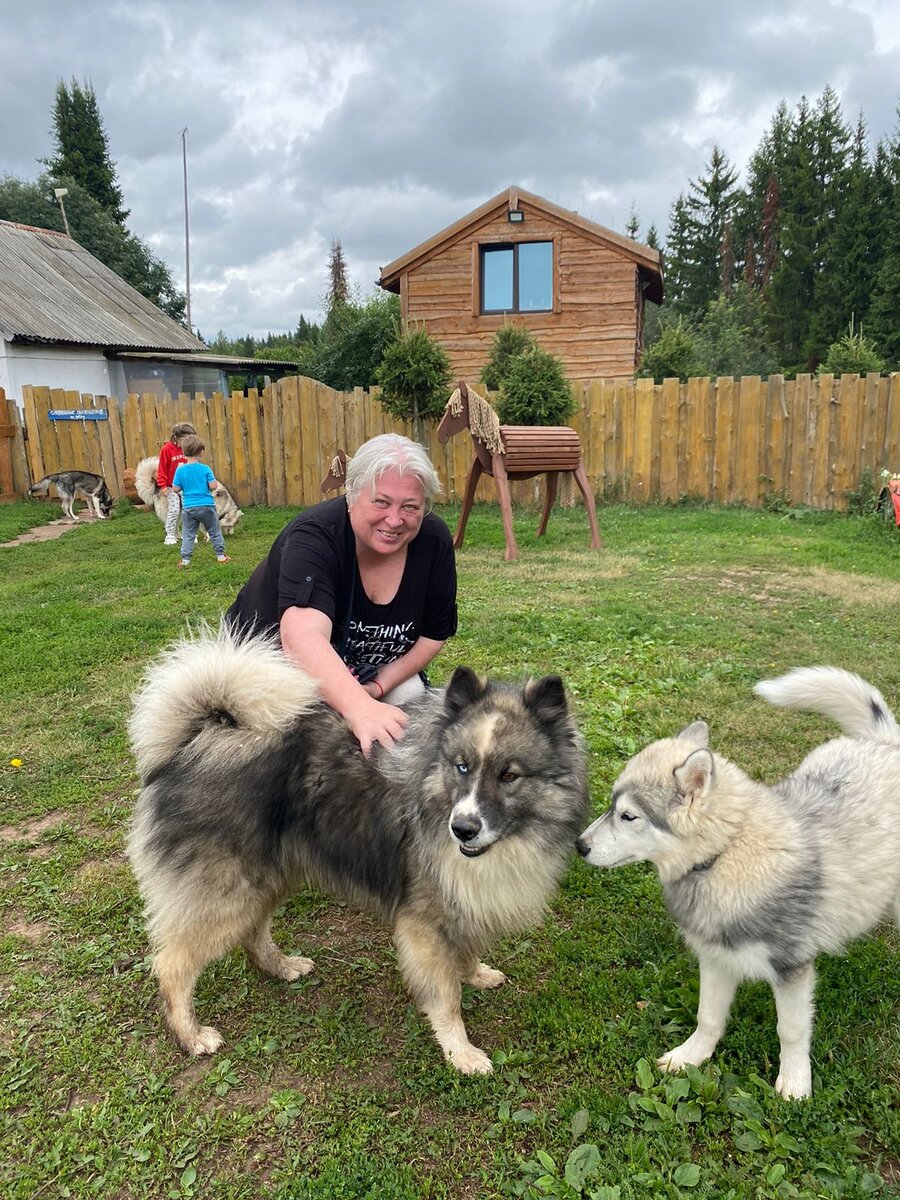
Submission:
<svg viewBox="0 0 900 1200">
<path fill-rule="evenodd" d="M 55 515 L 0 508 L 0 540 Z M 136 510 L 0 550 L 0 1194 L 900 1195 L 896 931 L 821 962 L 811 1100 L 772 1092 L 760 984 L 740 990 L 712 1064 L 662 1079 L 647 1064 L 688 1031 L 697 972 L 644 866 L 572 862 L 546 924 L 493 954 L 509 985 L 464 998 L 490 1079 L 443 1064 L 388 934 L 312 893 L 276 936 L 316 974 L 284 985 L 238 953 L 215 964 L 198 1008 L 227 1045 L 180 1054 L 122 856 L 128 697 L 186 619 L 230 602 L 290 515 L 247 511 L 233 563 L 199 546 L 190 572 Z M 900 708 L 900 535 L 883 521 L 606 506 L 592 553 L 581 510 L 554 512 L 541 541 L 536 520 L 517 514 L 508 564 L 497 509 L 473 514 L 460 634 L 436 677 L 461 662 L 562 673 L 598 811 L 632 752 L 700 715 L 749 772 L 788 770 L 833 730 L 752 697 L 784 668 L 850 667 Z"/>
</svg>

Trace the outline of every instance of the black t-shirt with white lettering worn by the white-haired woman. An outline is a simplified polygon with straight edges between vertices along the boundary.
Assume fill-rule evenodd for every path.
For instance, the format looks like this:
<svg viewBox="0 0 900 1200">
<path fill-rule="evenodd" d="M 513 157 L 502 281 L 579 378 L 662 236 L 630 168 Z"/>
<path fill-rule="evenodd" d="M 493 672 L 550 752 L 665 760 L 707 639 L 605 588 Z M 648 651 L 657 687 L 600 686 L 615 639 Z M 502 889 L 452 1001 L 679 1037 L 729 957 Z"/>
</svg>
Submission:
<svg viewBox="0 0 900 1200">
<path fill-rule="evenodd" d="M 392 662 L 419 637 L 443 642 L 456 632 L 450 530 L 426 512 L 407 546 L 397 594 L 390 604 L 373 604 L 360 581 L 347 500 L 323 500 L 282 529 L 227 617 L 239 629 L 277 634 L 282 614 L 294 605 L 329 618 L 331 644 L 350 666 Z"/>
</svg>

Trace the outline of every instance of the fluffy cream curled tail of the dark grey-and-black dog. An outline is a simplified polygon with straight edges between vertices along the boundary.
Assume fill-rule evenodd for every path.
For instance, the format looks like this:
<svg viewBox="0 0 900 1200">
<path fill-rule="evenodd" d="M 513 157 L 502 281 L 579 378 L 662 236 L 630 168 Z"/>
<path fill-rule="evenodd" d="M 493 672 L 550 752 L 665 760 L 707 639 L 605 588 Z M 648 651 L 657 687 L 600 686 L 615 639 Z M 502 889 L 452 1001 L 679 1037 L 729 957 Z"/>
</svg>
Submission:
<svg viewBox="0 0 900 1200">
<path fill-rule="evenodd" d="M 210 722 L 248 736 L 286 730 L 319 698 L 316 684 L 277 642 L 200 624 L 150 664 L 133 697 L 128 734 L 142 779 L 163 767 Z"/>
</svg>

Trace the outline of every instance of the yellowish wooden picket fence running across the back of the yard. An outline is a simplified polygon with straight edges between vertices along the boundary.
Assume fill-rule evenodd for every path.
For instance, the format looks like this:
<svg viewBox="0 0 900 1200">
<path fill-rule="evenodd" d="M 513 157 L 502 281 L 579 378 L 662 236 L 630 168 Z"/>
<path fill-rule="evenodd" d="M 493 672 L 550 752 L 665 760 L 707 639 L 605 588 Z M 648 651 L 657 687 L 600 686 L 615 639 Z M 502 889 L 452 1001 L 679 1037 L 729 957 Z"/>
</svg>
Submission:
<svg viewBox="0 0 900 1200">
<path fill-rule="evenodd" d="M 875 478 L 900 468 L 900 374 L 598 380 L 575 384 L 575 396 L 570 424 L 600 497 L 760 505 L 775 493 L 841 509 L 866 468 Z M 338 448 L 353 454 L 376 433 L 412 434 L 385 415 L 377 392 L 337 392 L 296 376 L 246 396 L 120 401 L 34 386 L 23 398 L 31 478 L 86 468 L 104 475 L 114 496 L 125 492 L 126 467 L 156 454 L 178 421 L 197 427 L 206 461 L 242 505 L 313 504 Z M 107 420 L 47 415 L 97 408 Z M 425 442 L 446 497 L 457 499 L 472 461 L 468 434 L 442 446 L 430 424 Z M 514 497 L 530 500 L 538 486 L 515 485 Z M 478 498 L 496 499 L 491 480 Z"/>
</svg>

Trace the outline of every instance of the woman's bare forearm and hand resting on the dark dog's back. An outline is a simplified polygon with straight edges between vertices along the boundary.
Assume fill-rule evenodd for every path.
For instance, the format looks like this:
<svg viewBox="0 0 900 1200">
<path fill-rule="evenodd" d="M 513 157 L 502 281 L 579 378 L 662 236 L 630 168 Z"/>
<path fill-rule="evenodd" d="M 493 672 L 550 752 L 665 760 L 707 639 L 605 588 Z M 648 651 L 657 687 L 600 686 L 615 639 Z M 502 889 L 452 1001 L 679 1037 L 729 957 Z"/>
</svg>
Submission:
<svg viewBox="0 0 900 1200">
<path fill-rule="evenodd" d="M 281 618 L 281 644 L 288 658 L 317 682 L 324 701 L 350 726 L 362 754 L 368 755 L 376 742 L 389 746 L 403 737 L 409 718 L 392 704 L 382 704 L 356 683 L 331 646 L 331 622 L 324 612 L 318 608 L 287 608 Z"/>
</svg>

